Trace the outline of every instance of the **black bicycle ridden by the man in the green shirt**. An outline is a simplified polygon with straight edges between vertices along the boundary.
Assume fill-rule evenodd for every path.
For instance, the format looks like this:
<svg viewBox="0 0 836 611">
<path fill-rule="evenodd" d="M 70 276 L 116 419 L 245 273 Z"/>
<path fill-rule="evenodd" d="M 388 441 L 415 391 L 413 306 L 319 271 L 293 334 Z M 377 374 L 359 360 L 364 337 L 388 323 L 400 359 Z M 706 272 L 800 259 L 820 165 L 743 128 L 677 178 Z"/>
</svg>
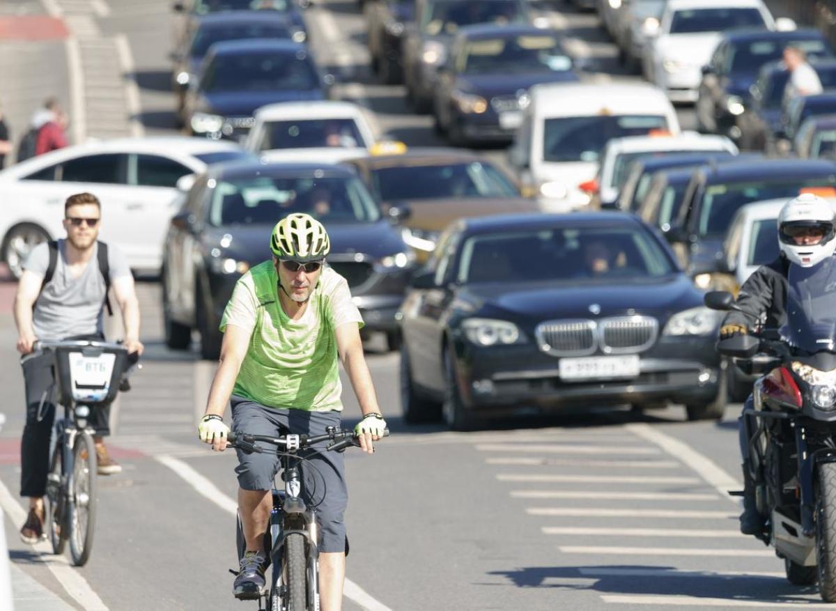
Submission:
<svg viewBox="0 0 836 611">
<path fill-rule="evenodd" d="M 284 489 L 273 486 L 273 510 L 270 526 L 264 533 L 265 547 L 273 567 L 267 593 L 257 598 L 259 611 L 319 611 L 319 548 L 317 546 L 316 512 L 308 507 L 302 496 L 299 464 L 304 461 L 298 451 L 324 441 L 334 441 L 326 451 L 343 452 L 350 446 L 359 447 L 353 430 L 340 430 L 333 426 L 324 435 L 247 435 L 230 431 L 230 446 L 245 452 L 264 452 L 256 442 L 277 446 L 281 459 Z M 385 430 L 384 436 L 389 435 Z M 278 474 L 277 474 L 278 475 Z M 274 480 L 275 482 L 275 480 Z M 247 548 L 241 516 L 237 515 L 236 546 L 238 561 Z M 234 571 L 232 571 L 235 574 Z M 262 606 L 266 603 L 266 606 Z"/>
</svg>

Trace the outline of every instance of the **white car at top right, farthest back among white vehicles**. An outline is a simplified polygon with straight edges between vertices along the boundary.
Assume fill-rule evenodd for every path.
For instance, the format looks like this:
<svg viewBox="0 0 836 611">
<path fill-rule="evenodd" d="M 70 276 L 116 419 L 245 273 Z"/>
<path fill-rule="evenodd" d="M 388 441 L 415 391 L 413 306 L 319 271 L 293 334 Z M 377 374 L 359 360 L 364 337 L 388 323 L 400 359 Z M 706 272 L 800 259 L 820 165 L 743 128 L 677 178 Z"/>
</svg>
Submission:
<svg viewBox="0 0 836 611">
<path fill-rule="evenodd" d="M 776 29 L 762 0 L 669 0 L 644 53 L 645 76 L 675 102 L 695 102 L 702 67 L 736 28 Z"/>
</svg>

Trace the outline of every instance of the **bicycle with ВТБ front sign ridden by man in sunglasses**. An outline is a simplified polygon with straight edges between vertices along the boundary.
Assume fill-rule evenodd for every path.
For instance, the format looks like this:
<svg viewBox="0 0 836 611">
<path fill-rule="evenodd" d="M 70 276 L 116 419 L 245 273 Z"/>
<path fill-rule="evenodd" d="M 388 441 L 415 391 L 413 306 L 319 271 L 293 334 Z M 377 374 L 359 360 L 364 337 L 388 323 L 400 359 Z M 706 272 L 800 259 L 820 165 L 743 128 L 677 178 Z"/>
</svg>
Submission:
<svg viewBox="0 0 836 611">
<path fill-rule="evenodd" d="M 121 344 L 89 340 L 38 341 L 24 359 L 52 353 L 56 405 L 54 446 L 49 456 L 44 515 L 53 552 L 64 553 L 69 541 L 73 564 L 84 566 L 93 548 L 96 522 L 95 430 L 92 410 L 103 410 L 119 390 L 130 389 L 127 375 L 136 363 Z M 43 405 L 42 405 L 43 408 Z"/>
</svg>

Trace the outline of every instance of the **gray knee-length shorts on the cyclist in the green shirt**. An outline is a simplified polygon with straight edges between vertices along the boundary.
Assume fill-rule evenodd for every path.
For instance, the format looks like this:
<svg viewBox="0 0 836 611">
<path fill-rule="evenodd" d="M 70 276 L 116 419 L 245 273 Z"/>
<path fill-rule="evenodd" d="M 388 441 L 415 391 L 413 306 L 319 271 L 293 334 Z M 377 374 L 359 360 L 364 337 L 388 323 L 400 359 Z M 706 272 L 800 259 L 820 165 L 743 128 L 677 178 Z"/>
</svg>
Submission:
<svg viewBox="0 0 836 611">
<path fill-rule="evenodd" d="M 232 395 L 232 430 L 250 435 L 324 435 L 325 428 L 341 425 L 339 411 L 277 410 L 255 401 Z M 305 451 L 299 466 L 302 476 L 304 502 L 316 512 L 319 522 L 319 551 L 348 552 L 345 535 L 344 513 L 349 502 L 349 490 L 345 483 L 344 456 L 339 452 L 322 451 L 329 442 L 323 442 Z M 237 450 L 238 466 L 235 472 L 238 485 L 244 490 L 271 490 L 279 469 L 276 446 L 258 444 L 265 448 L 259 454 L 247 454 Z M 281 480 L 276 482 L 283 488 Z"/>
</svg>

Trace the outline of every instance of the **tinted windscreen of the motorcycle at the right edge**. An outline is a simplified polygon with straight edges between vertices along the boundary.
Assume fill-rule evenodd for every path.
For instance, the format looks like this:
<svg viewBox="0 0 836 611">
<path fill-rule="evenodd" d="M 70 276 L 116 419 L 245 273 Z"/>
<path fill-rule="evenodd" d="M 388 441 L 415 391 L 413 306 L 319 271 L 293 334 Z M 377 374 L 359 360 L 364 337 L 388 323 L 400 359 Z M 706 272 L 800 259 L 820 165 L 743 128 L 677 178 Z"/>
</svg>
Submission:
<svg viewBox="0 0 836 611">
<path fill-rule="evenodd" d="M 813 267 L 790 264 L 781 335 L 810 354 L 836 349 L 836 257 Z"/>
</svg>

